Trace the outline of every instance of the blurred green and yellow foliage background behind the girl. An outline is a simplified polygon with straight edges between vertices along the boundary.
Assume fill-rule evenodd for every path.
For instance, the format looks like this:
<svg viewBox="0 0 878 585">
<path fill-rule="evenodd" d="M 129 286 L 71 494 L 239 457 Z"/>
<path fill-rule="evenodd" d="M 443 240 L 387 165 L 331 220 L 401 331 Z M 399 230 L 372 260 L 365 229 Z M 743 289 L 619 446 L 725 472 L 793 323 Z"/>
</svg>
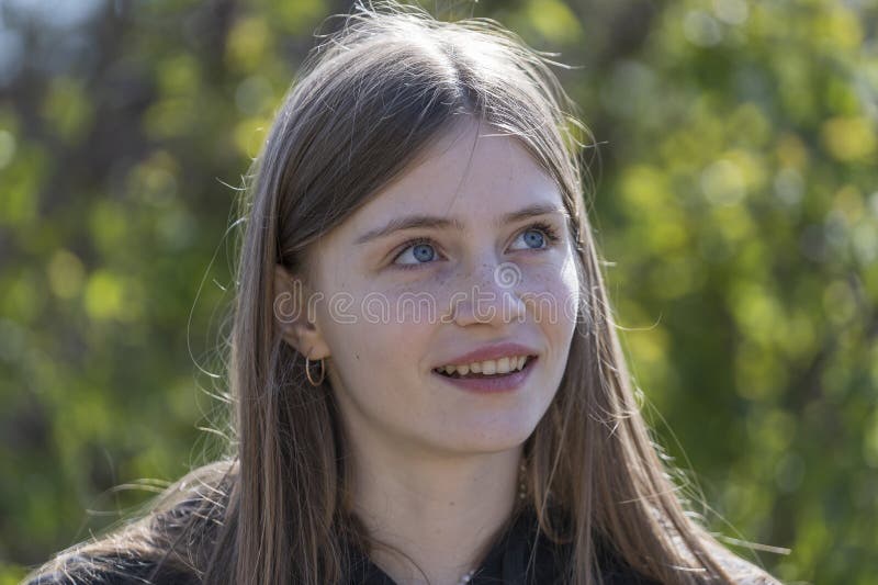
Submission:
<svg viewBox="0 0 878 585">
<path fill-rule="evenodd" d="M 626 351 L 709 526 L 878 583 L 878 2 L 425 5 L 575 66 Z M 215 452 L 240 176 L 349 8 L 0 0 L 0 584 Z"/>
</svg>

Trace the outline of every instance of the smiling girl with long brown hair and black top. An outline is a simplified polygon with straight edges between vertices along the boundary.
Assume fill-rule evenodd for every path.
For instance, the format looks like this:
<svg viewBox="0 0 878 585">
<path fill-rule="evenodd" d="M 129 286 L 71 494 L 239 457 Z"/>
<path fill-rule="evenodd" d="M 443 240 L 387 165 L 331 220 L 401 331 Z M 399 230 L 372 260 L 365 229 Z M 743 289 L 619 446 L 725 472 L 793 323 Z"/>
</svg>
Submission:
<svg viewBox="0 0 878 585">
<path fill-rule="evenodd" d="M 357 7 L 255 162 L 230 457 L 31 583 L 777 583 L 650 441 L 572 111 L 495 23 Z"/>
</svg>

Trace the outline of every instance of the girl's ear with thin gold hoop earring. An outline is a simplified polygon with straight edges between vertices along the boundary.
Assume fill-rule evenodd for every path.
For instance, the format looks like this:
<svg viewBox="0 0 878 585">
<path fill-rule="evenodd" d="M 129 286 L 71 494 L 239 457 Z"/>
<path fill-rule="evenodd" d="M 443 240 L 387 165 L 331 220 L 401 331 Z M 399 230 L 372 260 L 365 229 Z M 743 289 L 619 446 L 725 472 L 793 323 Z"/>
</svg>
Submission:
<svg viewBox="0 0 878 585">
<path fill-rule="evenodd" d="M 308 315 L 311 293 L 305 281 L 290 273 L 282 265 L 274 265 L 273 292 L 274 325 L 280 329 L 283 340 L 311 360 L 329 357 L 329 346 L 316 323 L 316 315 Z"/>
</svg>

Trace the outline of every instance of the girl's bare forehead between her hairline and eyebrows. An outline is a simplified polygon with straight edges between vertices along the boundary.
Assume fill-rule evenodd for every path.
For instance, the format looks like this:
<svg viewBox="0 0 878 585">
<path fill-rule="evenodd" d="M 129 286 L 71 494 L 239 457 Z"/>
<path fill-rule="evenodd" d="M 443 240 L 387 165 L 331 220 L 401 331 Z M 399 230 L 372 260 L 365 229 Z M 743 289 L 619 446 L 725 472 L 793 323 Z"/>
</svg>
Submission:
<svg viewBox="0 0 878 585">
<path fill-rule="evenodd" d="M 473 121 L 437 138 L 344 227 L 353 238 L 390 217 L 420 213 L 476 228 L 534 203 L 563 209 L 555 182 L 518 138 Z"/>
</svg>

